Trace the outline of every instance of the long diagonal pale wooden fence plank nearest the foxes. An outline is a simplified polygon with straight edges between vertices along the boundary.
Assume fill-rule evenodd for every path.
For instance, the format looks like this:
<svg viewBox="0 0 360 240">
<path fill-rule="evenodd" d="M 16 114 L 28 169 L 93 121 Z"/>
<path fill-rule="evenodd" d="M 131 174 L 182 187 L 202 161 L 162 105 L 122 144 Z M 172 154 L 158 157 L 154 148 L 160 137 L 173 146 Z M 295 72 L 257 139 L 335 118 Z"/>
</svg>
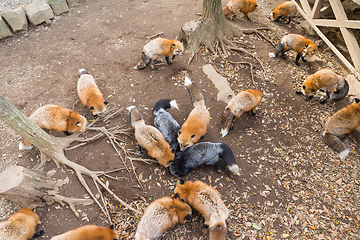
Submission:
<svg viewBox="0 0 360 240">
<path fill-rule="evenodd" d="M 329 48 L 338 56 L 338 58 L 345 64 L 345 66 L 354 73 L 358 78 L 360 76 L 360 69 L 358 72 L 354 68 L 354 66 L 337 50 L 337 48 L 334 46 L 334 44 L 331 43 L 331 41 L 320 31 L 318 27 L 312 22 L 312 19 L 306 15 L 306 13 L 301 9 L 301 7 L 297 4 L 295 0 L 291 0 L 296 4 L 296 7 L 299 11 L 299 13 L 305 18 L 305 20 L 310 24 L 310 26 L 314 29 L 314 31 L 321 37 L 321 39 L 329 46 Z"/>
</svg>

